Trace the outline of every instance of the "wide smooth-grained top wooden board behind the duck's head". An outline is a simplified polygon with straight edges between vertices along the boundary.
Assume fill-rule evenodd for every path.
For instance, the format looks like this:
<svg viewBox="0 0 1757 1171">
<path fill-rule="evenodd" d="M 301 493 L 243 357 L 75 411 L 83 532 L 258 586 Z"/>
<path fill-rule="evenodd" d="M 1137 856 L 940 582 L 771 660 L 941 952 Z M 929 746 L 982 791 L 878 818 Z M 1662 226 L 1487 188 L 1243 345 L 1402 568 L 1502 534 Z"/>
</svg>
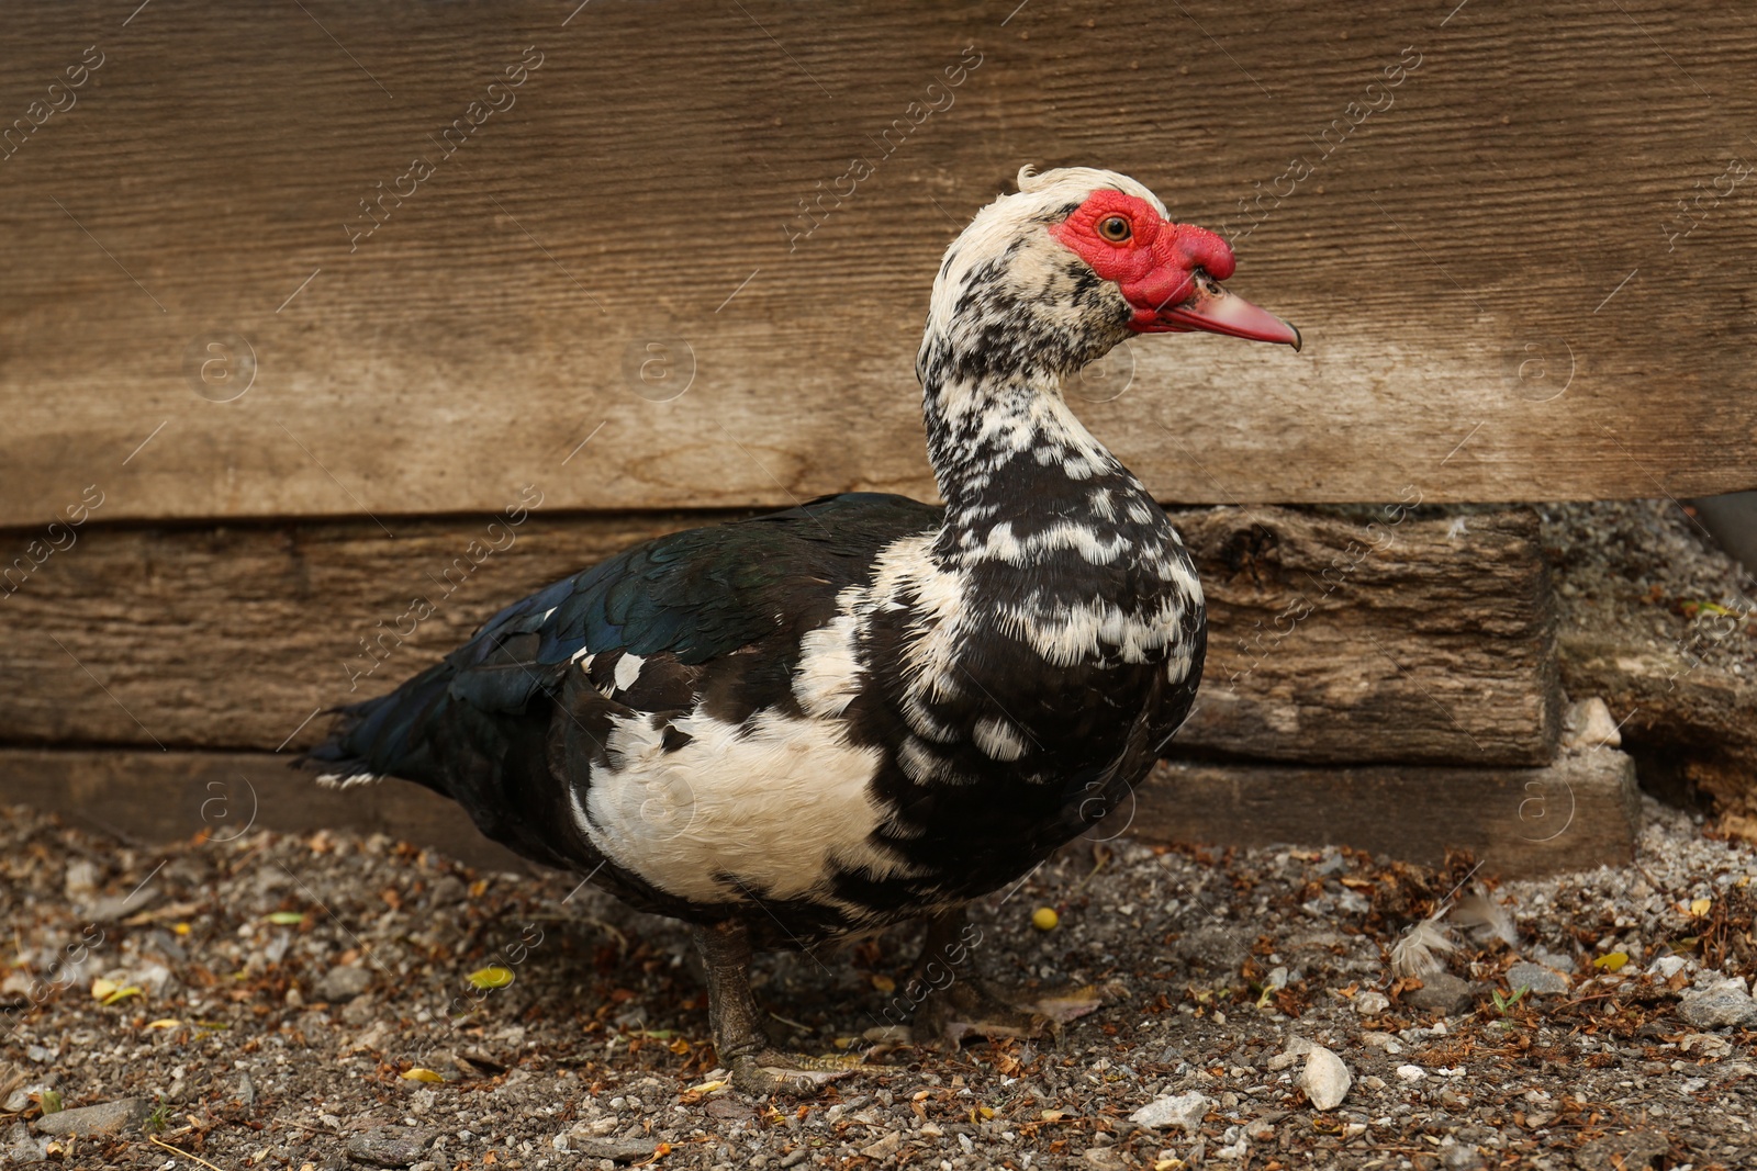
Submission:
<svg viewBox="0 0 1757 1171">
<path fill-rule="evenodd" d="M 1750 488 L 1753 54 L 1708 0 L 26 5 L 0 525 L 928 493 L 936 260 L 1052 162 L 1309 342 L 1084 384 L 1163 499 Z"/>
</svg>

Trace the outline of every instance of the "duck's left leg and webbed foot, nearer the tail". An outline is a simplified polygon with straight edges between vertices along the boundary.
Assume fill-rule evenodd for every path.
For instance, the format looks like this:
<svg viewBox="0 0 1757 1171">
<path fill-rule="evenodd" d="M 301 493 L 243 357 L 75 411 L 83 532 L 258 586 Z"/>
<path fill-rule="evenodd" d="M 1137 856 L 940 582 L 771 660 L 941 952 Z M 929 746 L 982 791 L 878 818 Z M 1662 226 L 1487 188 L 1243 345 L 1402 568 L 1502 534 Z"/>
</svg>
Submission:
<svg viewBox="0 0 1757 1171">
<path fill-rule="evenodd" d="M 743 923 L 696 927 L 696 948 L 708 973 L 708 1024 L 713 1052 L 745 1094 L 817 1094 L 852 1073 L 859 1059 L 812 1059 L 777 1050 L 750 994 L 750 936 Z"/>
</svg>

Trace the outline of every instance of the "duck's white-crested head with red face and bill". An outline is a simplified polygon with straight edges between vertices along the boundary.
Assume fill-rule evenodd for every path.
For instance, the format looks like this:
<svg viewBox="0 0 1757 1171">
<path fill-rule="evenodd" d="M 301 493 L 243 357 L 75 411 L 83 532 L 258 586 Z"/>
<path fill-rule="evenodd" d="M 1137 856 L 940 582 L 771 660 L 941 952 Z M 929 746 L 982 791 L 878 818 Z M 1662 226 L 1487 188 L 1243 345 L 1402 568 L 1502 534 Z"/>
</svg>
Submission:
<svg viewBox="0 0 1757 1171">
<path fill-rule="evenodd" d="M 1128 176 L 1026 167 L 947 249 L 922 358 L 1068 370 L 1130 334 L 1189 330 L 1298 349 L 1293 325 L 1221 288 L 1233 267 L 1223 239 Z"/>
</svg>

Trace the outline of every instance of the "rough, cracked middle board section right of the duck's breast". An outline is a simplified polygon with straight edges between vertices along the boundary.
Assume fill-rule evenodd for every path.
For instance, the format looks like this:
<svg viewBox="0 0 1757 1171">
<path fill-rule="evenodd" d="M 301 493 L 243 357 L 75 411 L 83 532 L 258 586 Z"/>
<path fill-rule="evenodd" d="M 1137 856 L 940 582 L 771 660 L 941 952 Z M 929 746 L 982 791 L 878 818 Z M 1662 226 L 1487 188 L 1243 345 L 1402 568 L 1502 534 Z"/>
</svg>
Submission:
<svg viewBox="0 0 1757 1171">
<path fill-rule="evenodd" d="M 1537 765 L 1555 753 L 1557 616 L 1537 518 L 1177 514 L 1209 662 L 1177 755 Z"/>
</svg>

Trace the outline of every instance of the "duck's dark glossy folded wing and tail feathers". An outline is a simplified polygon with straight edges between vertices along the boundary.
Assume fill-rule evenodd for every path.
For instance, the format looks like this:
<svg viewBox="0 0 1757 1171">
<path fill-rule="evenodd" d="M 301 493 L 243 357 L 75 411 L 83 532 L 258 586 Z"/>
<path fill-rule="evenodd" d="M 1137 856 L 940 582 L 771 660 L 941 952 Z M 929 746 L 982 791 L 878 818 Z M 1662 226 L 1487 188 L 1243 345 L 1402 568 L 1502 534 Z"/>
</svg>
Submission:
<svg viewBox="0 0 1757 1171">
<path fill-rule="evenodd" d="M 836 595 L 942 518 L 907 497 L 843 493 L 633 546 L 508 606 L 388 695 L 337 709 L 300 764 L 329 783 L 418 781 L 490 837 L 568 862 L 529 825 L 566 813 L 552 739 L 603 755 L 615 715 L 712 704 L 741 720 L 785 702 L 801 639 L 835 616 Z M 590 686 L 564 706 L 569 672 Z M 569 723 L 560 737 L 555 720 Z"/>
</svg>

